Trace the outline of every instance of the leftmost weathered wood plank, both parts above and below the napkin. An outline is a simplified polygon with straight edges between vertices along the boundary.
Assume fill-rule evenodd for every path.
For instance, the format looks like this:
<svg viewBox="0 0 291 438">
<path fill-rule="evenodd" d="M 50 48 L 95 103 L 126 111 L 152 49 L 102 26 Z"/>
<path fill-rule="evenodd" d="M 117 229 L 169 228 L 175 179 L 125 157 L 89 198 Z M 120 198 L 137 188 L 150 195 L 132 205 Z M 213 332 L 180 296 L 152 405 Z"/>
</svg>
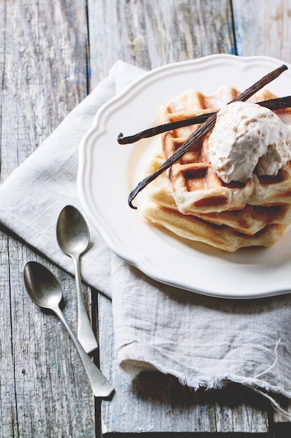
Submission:
<svg viewBox="0 0 291 438">
<path fill-rule="evenodd" d="M 87 95 L 86 2 L 6 0 L 0 22 L 2 182 Z M 75 348 L 24 290 L 25 262 L 41 259 L 5 233 L 0 245 L 0 437 L 95 437 L 94 397 Z M 52 269 L 75 327 L 73 278 Z"/>
</svg>

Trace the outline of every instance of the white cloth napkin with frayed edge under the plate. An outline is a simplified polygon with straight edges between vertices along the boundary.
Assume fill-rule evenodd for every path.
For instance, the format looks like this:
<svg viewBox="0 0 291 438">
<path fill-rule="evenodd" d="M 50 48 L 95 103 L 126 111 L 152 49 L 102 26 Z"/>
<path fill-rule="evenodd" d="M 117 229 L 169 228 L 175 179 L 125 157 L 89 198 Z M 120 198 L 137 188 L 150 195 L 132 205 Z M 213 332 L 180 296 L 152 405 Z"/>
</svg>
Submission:
<svg viewBox="0 0 291 438">
<path fill-rule="evenodd" d="M 72 263 L 59 249 L 55 230 L 66 204 L 82 210 L 76 188 L 80 139 L 98 108 L 142 74 L 117 62 L 1 185 L 2 224 L 71 273 Z M 178 290 L 121 260 L 89 228 L 92 246 L 82 257 L 82 278 L 112 297 L 121 369 L 133 376 L 158 369 L 195 389 L 234 381 L 267 396 L 291 397 L 291 295 L 243 301 Z"/>
</svg>

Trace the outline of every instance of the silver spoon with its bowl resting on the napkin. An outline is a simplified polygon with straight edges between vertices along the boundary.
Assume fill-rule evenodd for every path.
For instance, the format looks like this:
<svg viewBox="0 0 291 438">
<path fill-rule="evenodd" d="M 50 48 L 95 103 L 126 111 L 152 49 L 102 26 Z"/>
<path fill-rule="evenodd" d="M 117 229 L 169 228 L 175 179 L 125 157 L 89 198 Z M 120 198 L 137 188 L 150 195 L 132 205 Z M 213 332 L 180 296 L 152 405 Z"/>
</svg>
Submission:
<svg viewBox="0 0 291 438">
<path fill-rule="evenodd" d="M 77 339 L 87 353 L 98 347 L 81 291 L 80 255 L 87 249 L 89 240 L 89 229 L 80 211 L 71 205 L 64 207 L 57 220 L 57 241 L 61 250 L 73 259 L 77 287 Z"/>
</svg>

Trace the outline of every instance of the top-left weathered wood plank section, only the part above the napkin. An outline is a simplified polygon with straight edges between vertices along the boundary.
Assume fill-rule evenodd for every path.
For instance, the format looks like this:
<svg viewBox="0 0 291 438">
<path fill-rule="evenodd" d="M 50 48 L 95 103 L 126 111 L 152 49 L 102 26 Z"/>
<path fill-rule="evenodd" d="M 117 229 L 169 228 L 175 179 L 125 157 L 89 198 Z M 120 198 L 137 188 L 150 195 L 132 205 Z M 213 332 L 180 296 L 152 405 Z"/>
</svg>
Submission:
<svg viewBox="0 0 291 438">
<path fill-rule="evenodd" d="M 10 136 L 19 136 L 17 148 L 13 143 L 9 150 L 18 151 L 17 160 L 10 157 L 16 166 L 87 95 L 87 17 L 84 2 L 74 0 L 53 7 L 45 1 L 6 1 L 1 8 L 1 146 L 5 152 Z M 1 166 L 3 181 L 13 165 Z"/>
</svg>

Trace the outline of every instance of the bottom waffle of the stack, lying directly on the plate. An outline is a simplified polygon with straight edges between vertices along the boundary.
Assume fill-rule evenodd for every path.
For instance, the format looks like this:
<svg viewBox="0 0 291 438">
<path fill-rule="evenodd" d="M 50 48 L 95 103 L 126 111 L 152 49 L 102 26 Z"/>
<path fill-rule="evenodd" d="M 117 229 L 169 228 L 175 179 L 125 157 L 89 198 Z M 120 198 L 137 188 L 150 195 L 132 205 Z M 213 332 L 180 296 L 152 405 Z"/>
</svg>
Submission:
<svg viewBox="0 0 291 438">
<path fill-rule="evenodd" d="M 179 211 L 158 206 L 149 200 L 142 204 L 141 213 L 154 225 L 165 227 L 185 239 L 207 243 L 228 253 L 247 246 L 272 246 L 290 228 L 290 225 L 267 225 L 254 236 L 248 236 L 226 225 L 213 225 L 195 216 L 183 215 Z"/>
</svg>

